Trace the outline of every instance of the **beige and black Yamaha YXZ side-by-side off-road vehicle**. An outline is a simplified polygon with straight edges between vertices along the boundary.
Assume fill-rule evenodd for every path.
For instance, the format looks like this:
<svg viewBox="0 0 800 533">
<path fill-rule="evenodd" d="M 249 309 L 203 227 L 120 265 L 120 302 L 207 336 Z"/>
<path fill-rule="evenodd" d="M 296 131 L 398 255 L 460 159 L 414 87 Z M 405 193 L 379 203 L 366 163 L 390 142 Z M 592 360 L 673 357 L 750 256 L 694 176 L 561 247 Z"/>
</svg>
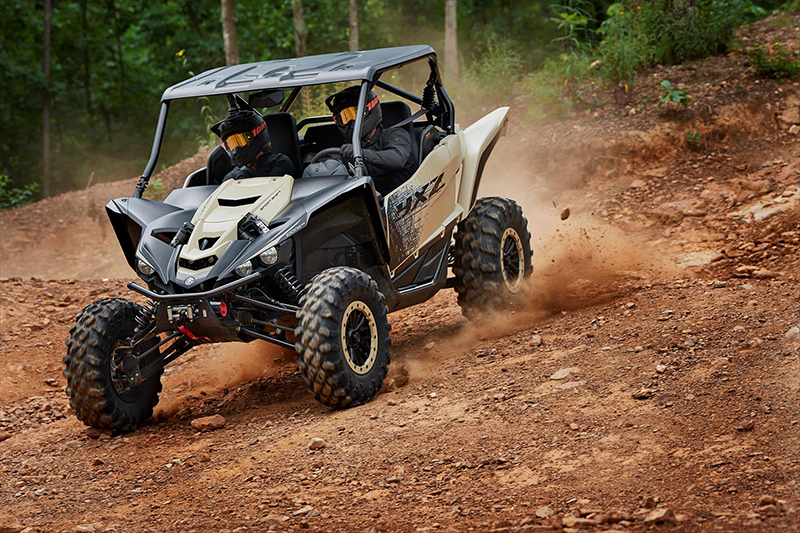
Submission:
<svg viewBox="0 0 800 533">
<path fill-rule="evenodd" d="M 430 67 L 419 93 L 381 79 L 418 61 Z M 360 86 L 352 139 L 330 115 L 296 122 L 292 104 L 304 87 L 341 82 Z M 410 134 L 416 161 L 411 178 L 385 195 L 359 143 L 375 87 L 400 98 L 382 103 L 382 126 Z M 278 109 L 263 118 L 272 151 L 292 172 L 222 182 L 232 162 L 217 147 L 163 202 L 144 199 L 170 104 L 214 96 Z M 106 206 L 141 278 L 128 287 L 147 303 L 105 298 L 78 315 L 64 357 L 78 418 L 135 429 L 152 415 L 169 362 L 198 344 L 257 339 L 296 350 L 320 402 L 359 405 L 386 376 L 391 311 L 445 287 L 468 318 L 512 303 L 532 269 L 527 222 L 512 200 L 477 198 L 507 114 L 500 108 L 461 129 L 429 46 L 221 67 L 167 89 L 133 196 Z M 340 156 L 348 142 L 354 164 Z"/>
</svg>

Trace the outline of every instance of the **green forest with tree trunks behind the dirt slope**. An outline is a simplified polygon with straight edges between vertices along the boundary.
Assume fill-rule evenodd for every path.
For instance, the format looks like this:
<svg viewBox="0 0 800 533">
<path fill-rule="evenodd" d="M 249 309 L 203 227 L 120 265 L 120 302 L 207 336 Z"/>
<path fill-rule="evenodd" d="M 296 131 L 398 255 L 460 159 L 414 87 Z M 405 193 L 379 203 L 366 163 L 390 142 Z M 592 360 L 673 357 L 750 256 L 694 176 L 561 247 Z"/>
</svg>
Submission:
<svg viewBox="0 0 800 533">
<path fill-rule="evenodd" d="M 736 46 L 740 25 L 799 5 L 8 0 L 0 10 L 0 207 L 136 175 L 163 90 L 226 63 L 425 43 L 440 52 L 460 106 L 513 102 L 528 120 L 550 120 L 592 108 L 598 86 L 624 100 L 639 69 L 723 53 Z M 786 65 L 784 75 L 800 73 L 797 58 L 763 53 Z M 177 107 L 160 168 L 212 143 L 207 128 L 225 111 L 224 101 L 202 99 Z"/>
</svg>

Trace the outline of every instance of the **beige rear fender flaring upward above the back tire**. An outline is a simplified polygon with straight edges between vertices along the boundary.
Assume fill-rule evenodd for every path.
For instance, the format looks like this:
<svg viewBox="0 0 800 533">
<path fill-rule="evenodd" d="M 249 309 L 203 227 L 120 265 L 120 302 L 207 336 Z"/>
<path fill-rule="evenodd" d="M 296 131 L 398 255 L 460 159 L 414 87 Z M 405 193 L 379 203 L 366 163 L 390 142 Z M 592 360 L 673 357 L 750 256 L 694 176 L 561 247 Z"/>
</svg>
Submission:
<svg viewBox="0 0 800 533">
<path fill-rule="evenodd" d="M 489 156 L 508 129 L 508 107 L 495 109 L 464 130 L 464 167 L 458 203 L 469 213 L 478 196 L 481 176 Z"/>
</svg>

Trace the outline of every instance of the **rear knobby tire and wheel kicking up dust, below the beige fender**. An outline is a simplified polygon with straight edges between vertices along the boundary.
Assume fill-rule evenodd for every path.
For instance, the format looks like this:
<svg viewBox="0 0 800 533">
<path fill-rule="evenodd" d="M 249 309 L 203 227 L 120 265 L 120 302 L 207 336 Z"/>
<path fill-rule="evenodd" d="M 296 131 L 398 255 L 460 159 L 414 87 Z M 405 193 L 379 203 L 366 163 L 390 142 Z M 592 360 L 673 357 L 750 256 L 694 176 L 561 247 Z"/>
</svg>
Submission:
<svg viewBox="0 0 800 533">
<path fill-rule="evenodd" d="M 453 274 L 467 318 L 513 304 L 533 271 L 522 209 L 506 198 L 481 198 L 456 230 Z"/>
</svg>

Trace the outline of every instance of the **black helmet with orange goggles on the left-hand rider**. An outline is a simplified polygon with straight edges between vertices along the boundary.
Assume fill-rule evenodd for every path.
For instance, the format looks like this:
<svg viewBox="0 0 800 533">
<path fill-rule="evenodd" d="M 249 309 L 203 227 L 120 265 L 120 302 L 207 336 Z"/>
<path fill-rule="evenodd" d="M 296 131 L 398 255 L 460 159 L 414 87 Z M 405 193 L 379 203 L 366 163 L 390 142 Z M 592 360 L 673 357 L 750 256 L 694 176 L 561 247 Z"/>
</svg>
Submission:
<svg viewBox="0 0 800 533">
<path fill-rule="evenodd" d="M 260 152 L 270 150 L 266 126 L 259 112 L 232 107 L 227 117 L 211 126 L 211 131 L 222 139 L 233 165 L 241 167 L 252 163 Z"/>
</svg>

